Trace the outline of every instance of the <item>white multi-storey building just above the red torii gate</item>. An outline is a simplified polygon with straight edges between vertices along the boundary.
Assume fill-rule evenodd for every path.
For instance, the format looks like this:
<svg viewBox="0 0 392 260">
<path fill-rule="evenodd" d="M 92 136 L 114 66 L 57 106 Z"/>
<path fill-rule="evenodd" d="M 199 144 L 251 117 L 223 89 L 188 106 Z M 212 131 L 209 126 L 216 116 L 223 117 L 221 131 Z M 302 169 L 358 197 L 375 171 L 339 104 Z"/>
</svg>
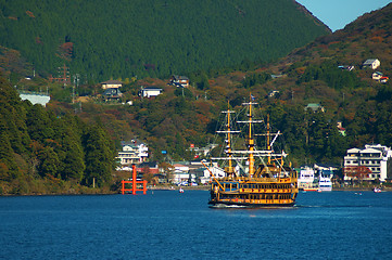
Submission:
<svg viewBox="0 0 392 260">
<path fill-rule="evenodd" d="M 137 165 L 147 160 L 149 157 L 147 147 L 143 143 L 132 140 L 129 143 L 122 143 L 123 150 L 118 152 L 117 159 L 122 166 Z"/>
</svg>

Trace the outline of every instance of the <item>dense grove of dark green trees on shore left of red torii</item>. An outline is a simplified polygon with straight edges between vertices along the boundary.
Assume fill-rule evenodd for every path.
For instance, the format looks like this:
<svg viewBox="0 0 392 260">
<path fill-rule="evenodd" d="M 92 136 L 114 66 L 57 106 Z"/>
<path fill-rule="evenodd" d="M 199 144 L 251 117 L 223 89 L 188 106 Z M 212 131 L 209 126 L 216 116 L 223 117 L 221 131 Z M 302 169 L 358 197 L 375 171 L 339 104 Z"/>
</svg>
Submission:
<svg viewBox="0 0 392 260">
<path fill-rule="evenodd" d="M 109 191 L 115 156 L 99 123 L 22 102 L 0 77 L 0 195 Z"/>
</svg>

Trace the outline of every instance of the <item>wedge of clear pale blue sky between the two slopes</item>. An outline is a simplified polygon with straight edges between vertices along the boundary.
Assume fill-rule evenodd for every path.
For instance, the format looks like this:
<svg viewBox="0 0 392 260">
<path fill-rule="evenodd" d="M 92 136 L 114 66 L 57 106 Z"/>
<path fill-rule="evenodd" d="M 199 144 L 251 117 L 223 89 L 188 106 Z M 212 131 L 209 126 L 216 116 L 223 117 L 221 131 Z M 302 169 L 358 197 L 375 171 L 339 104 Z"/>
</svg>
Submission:
<svg viewBox="0 0 392 260">
<path fill-rule="evenodd" d="M 391 0 L 296 0 L 314 16 L 325 23 L 332 31 L 343 29 L 345 25 L 365 13 L 381 9 Z"/>
</svg>

